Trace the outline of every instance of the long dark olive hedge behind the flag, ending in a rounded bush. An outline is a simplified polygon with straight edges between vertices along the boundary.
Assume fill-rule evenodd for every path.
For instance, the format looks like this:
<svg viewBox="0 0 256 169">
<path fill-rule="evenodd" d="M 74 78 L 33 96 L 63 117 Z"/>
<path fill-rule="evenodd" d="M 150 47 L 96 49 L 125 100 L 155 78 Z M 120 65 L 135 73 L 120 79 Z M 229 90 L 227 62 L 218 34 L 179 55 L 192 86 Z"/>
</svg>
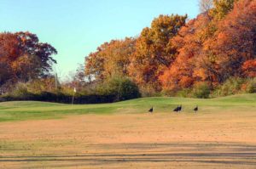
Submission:
<svg viewBox="0 0 256 169">
<path fill-rule="evenodd" d="M 49 85 L 51 87 L 52 85 Z M 18 83 L 10 93 L 3 94 L 0 102 L 15 100 L 34 100 L 71 104 L 73 87 L 45 87 L 40 81 Z M 49 91 L 51 90 L 51 91 Z M 74 104 L 101 104 L 140 97 L 137 85 L 128 78 L 114 77 L 102 83 L 98 90 L 88 92 L 79 90 L 74 96 Z"/>
</svg>

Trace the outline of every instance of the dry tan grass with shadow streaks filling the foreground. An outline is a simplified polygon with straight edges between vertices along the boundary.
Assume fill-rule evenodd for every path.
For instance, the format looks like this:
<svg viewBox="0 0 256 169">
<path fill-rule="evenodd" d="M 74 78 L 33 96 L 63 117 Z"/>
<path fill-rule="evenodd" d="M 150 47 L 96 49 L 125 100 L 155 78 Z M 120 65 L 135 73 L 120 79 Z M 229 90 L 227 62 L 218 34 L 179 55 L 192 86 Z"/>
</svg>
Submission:
<svg viewBox="0 0 256 169">
<path fill-rule="evenodd" d="M 0 124 L 0 168 L 255 168 L 253 112 Z"/>
</svg>

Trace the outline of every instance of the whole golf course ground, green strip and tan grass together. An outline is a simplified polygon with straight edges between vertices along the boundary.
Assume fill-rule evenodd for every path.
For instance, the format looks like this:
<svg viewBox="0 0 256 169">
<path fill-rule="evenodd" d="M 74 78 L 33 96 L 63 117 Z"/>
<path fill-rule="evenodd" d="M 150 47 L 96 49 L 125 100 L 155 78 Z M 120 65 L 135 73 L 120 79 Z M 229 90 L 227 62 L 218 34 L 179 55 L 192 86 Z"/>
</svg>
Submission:
<svg viewBox="0 0 256 169">
<path fill-rule="evenodd" d="M 172 112 L 179 104 L 183 111 Z M 0 103 L 0 168 L 255 166 L 256 94 L 73 106 Z"/>
</svg>

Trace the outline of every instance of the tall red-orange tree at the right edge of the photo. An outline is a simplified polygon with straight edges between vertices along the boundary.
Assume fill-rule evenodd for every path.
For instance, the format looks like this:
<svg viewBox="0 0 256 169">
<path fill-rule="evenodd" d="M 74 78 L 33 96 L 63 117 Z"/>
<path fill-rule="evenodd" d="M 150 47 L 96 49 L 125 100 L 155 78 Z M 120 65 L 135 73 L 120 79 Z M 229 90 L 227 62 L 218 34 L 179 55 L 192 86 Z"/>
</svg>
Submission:
<svg viewBox="0 0 256 169">
<path fill-rule="evenodd" d="M 206 55 L 215 60 L 212 65 L 218 74 L 218 82 L 224 82 L 230 76 L 242 76 L 246 67 L 253 66 L 253 61 L 247 60 L 256 57 L 255 25 L 256 1 L 252 0 L 240 0 L 218 23 L 215 36 L 205 44 Z"/>
</svg>

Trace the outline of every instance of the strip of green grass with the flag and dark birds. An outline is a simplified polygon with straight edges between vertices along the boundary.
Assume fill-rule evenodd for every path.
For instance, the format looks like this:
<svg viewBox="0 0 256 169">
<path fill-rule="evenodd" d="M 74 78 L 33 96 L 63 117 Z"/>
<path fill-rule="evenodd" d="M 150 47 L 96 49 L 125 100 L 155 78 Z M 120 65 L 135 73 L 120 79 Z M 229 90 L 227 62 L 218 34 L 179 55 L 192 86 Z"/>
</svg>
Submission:
<svg viewBox="0 0 256 169">
<path fill-rule="evenodd" d="M 177 104 L 183 104 L 184 113 L 193 113 L 199 105 L 201 113 L 220 113 L 224 110 L 252 111 L 256 113 L 256 94 L 240 94 L 218 99 L 186 98 L 143 98 L 114 104 L 55 104 L 35 101 L 0 103 L 1 121 L 26 121 L 36 119 L 55 119 L 65 115 L 113 113 L 145 113 L 154 106 L 155 113 L 172 112 Z"/>
</svg>

